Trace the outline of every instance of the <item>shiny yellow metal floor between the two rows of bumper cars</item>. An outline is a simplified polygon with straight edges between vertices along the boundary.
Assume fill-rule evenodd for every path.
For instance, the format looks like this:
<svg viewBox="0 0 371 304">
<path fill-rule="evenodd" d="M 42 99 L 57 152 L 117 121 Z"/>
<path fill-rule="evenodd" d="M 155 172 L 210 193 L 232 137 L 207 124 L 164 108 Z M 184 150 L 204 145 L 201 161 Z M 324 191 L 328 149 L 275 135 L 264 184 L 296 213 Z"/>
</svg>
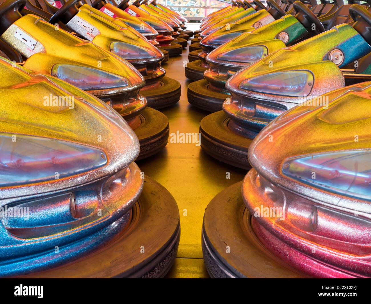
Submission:
<svg viewBox="0 0 371 304">
<path fill-rule="evenodd" d="M 188 41 L 190 44 L 190 41 Z M 163 66 L 166 76 L 181 84 L 177 105 L 163 109 L 171 133 L 198 133 L 203 117 L 209 112 L 197 109 L 187 101 L 184 63 L 188 46 L 181 56 L 170 58 Z M 201 250 L 201 228 L 204 210 L 210 200 L 224 188 L 239 182 L 247 171 L 221 163 L 194 143 L 169 143 L 160 153 L 137 162 L 141 170 L 161 183 L 175 198 L 179 207 L 181 236 L 177 259 L 168 278 L 208 278 Z M 230 179 L 227 179 L 227 172 Z"/>
</svg>

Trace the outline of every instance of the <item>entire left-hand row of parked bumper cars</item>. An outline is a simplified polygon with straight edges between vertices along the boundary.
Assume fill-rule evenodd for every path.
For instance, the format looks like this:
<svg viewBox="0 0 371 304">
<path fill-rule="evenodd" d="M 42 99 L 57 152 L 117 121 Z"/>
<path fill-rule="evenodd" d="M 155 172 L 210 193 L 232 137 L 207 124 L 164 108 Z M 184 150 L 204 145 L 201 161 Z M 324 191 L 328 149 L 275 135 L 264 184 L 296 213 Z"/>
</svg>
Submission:
<svg viewBox="0 0 371 304">
<path fill-rule="evenodd" d="M 193 32 L 155 1 L 0 4 L 0 276 L 163 277 L 170 193 L 134 160 L 165 147 Z"/>
</svg>

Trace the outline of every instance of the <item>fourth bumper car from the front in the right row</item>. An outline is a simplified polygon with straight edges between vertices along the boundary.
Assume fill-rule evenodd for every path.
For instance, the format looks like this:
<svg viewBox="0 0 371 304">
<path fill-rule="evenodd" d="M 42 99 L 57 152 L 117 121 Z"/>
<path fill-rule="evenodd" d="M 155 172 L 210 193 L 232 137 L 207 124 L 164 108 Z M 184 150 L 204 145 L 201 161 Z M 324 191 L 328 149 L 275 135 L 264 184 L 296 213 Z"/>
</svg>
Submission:
<svg viewBox="0 0 371 304">
<path fill-rule="evenodd" d="M 264 7 L 259 0 L 254 0 L 257 4 Z M 210 68 L 206 62 L 206 56 L 220 45 L 242 35 L 244 32 L 250 32 L 265 24 L 269 24 L 282 16 L 285 16 L 278 5 L 270 6 L 268 10 L 260 9 L 259 11 L 249 14 L 235 23 L 227 24 L 214 32 L 211 32 L 200 41 L 202 51 L 198 54 L 200 60 L 195 60 L 185 67 L 185 76 L 188 79 L 197 81 L 204 78 L 204 72 Z M 201 32 L 202 37 L 203 32 Z"/>
</svg>

